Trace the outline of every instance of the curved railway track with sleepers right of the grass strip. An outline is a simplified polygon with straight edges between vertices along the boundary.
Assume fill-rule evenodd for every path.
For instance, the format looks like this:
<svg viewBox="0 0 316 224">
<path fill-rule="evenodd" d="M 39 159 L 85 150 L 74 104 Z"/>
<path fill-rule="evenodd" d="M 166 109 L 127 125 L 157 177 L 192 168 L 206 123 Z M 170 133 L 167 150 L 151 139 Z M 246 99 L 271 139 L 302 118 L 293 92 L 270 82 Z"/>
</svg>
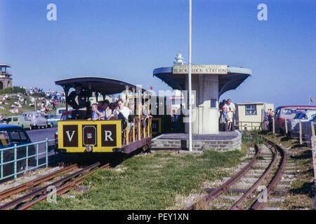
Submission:
<svg viewBox="0 0 316 224">
<path fill-rule="evenodd" d="M 266 140 L 255 149 L 254 157 L 237 174 L 223 179 L 225 183 L 218 188 L 207 189 L 209 194 L 187 210 L 202 207 L 260 210 L 265 209 L 263 206 L 270 201 L 270 195 L 286 194 L 286 190 L 275 190 L 286 167 L 285 148 Z"/>
</svg>

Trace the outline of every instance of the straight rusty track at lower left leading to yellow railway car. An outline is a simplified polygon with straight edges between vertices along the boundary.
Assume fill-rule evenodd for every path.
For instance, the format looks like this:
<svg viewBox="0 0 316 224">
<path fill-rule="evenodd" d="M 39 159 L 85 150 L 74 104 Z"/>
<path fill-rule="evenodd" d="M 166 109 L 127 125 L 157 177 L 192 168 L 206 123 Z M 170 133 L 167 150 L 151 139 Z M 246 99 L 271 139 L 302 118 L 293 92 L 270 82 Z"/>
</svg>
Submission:
<svg viewBox="0 0 316 224">
<path fill-rule="evenodd" d="M 27 183 L 22 183 L 20 186 L 4 190 L 0 193 L 0 202 L 1 200 L 7 200 L 9 197 L 15 196 L 16 198 L 9 202 L 4 202 L 3 204 L 0 204 L 0 210 L 11 208 L 18 210 L 28 209 L 32 205 L 40 202 L 41 200 L 45 200 L 46 197 L 48 197 L 49 193 L 47 193 L 47 190 L 50 186 L 54 186 L 56 188 L 56 193 L 58 195 L 66 193 L 74 186 L 78 186 L 79 184 L 81 184 L 86 176 L 93 174 L 93 172 L 96 172 L 96 170 L 98 170 L 95 169 L 96 167 L 98 167 L 98 169 L 108 169 L 110 168 L 110 164 L 107 163 L 103 166 L 100 166 L 100 162 L 96 162 L 82 169 L 79 169 L 77 165 L 71 165 L 59 169 L 58 171 L 51 174 L 41 176 Z M 60 177 L 62 174 L 65 173 L 70 174 L 64 177 Z M 54 179 L 57 180 L 53 181 Z M 48 181 L 53 181 L 53 183 Z M 19 193 L 22 193 L 22 195 L 18 195 Z M 35 197 L 37 198 L 34 199 Z"/>
</svg>

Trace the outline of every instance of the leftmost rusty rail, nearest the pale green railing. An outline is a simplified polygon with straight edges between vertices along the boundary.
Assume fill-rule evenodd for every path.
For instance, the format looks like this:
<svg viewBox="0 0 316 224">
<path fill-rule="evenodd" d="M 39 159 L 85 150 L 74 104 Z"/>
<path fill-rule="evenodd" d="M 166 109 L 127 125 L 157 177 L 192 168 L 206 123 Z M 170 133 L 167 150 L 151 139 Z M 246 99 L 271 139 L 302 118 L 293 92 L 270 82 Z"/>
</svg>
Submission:
<svg viewBox="0 0 316 224">
<path fill-rule="evenodd" d="M 3 200 L 6 197 L 10 197 L 11 195 L 14 195 L 16 193 L 20 193 L 24 190 L 27 190 L 29 188 L 32 188 L 34 186 L 39 185 L 40 183 L 43 183 L 45 181 L 48 181 L 50 179 L 55 178 L 58 174 L 63 174 L 65 172 L 70 172 L 72 169 L 75 169 L 77 165 L 71 165 L 69 167 L 64 167 L 62 169 L 59 169 L 51 174 L 46 174 L 44 176 L 40 176 L 37 179 L 34 179 L 32 181 L 28 181 L 27 183 L 22 183 L 19 186 L 15 186 L 13 188 L 9 188 L 7 190 L 4 190 L 0 192 L 0 200 Z"/>
</svg>

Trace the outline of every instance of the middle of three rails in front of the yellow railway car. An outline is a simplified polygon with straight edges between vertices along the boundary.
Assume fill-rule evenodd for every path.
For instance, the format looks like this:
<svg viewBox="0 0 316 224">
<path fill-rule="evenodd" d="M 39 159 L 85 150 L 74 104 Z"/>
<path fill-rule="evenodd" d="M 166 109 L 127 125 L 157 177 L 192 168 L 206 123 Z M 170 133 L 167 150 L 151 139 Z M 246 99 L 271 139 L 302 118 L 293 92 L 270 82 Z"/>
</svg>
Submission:
<svg viewBox="0 0 316 224">
<path fill-rule="evenodd" d="M 74 174 L 70 174 L 69 176 L 65 176 L 64 178 L 58 180 L 58 181 L 55 181 L 47 186 L 44 186 L 44 187 L 41 187 L 37 190 L 34 190 L 33 192 L 31 193 L 28 193 L 27 195 L 23 195 L 22 197 L 19 197 L 11 202 L 8 202 L 6 204 L 3 204 L 0 206 L 0 210 L 4 210 L 4 209 L 8 209 L 8 208 L 11 208 L 17 204 L 20 204 L 22 203 L 23 201 L 25 200 L 29 200 L 29 199 L 32 199 L 33 197 L 37 196 L 37 195 L 41 195 L 42 193 L 44 193 L 47 188 L 49 186 L 60 186 L 62 183 L 65 183 L 66 181 L 69 181 L 70 179 L 76 177 L 76 176 L 79 176 L 79 174 L 82 174 L 83 172 L 86 172 L 90 169 L 93 169 L 94 167 L 98 167 L 100 165 L 100 162 L 96 162 L 94 163 L 93 165 L 90 165 L 84 169 L 81 169 L 79 170 L 78 172 L 75 172 Z"/>
</svg>

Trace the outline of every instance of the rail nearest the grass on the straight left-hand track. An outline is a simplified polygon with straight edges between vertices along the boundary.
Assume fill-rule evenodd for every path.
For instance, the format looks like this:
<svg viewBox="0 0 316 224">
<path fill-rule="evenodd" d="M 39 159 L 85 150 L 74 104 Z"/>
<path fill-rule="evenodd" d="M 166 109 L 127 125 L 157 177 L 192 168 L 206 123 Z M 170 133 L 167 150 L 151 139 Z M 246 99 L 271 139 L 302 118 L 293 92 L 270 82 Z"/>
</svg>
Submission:
<svg viewBox="0 0 316 224">
<path fill-rule="evenodd" d="M 93 174 L 94 172 L 96 172 L 97 170 L 99 169 L 109 169 L 110 168 L 110 163 L 107 163 L 106 165 L 103 165 L 102 167 L 99 167 L 98 169 L 92 171 L 92 172 L 89 172 L 88 174 L 85 174 L 84 176 L 81 176 L 79 177 L 78 179 L 70 182 L 70 183 L 67 183 L 65 184 L 64 186 L 61 186 L 60 188 L 58 188 L 56 190 L 56 193 L 58 195 L 62 195 L 63 193 L 66 193 L 68 190 L 70 190 L 71 188 L 73 188 L 74 186 L 77 186 L 79 184 L 81 184 L 83 182 L 83 179 L 86 177 L 86 176 L 89 176 L 91 174 Z M 29 202 L 27 204 L 24 204 L 22 207 L 18 208 L 17 210 L 25 210 L 25 209 L 28 209 L 29 207 L 32 207 L 34 204 L 37 204 L 38 202 L 41 202 L 42 200 L 45 200 L 46 197 L 48 197 L 48 195 L 50 195 L 51 193 L 47 193 L 46 195 L 43 195 L 39 198 L 37 198 L 37 200 L 34 200 L 32 202 Z"/>
</svg>

